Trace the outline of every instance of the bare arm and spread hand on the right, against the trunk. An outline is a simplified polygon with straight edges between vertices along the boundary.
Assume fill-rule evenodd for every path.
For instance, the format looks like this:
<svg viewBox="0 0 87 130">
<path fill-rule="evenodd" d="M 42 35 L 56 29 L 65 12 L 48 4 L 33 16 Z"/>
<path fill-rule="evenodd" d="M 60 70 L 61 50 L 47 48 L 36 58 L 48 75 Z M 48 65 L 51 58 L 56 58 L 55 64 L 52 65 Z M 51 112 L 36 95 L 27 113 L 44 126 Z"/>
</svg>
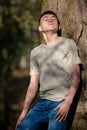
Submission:
<svg viewBox="0 0 87 130">
<path fill-rule="evenodd" d="M 69 109 L 70 109 L 70 105 L 72 104 L 73 98 L 76 94 L 76 91 L 77 91 L 77 88 L 78 88 L 78 85 L 80 82 L 79 65 L 71 66 L 70 71 L 72 74 L 72 81 L 71 81 L 68 95 L 67 95 L 65 101 L 55 108 L 55 110 L 59 109 L 59 112 L 55 116 L 56 120 L 58 120 L 58 121 L 66 119 L 68 112 L 69 112 Z"/>
</svg>

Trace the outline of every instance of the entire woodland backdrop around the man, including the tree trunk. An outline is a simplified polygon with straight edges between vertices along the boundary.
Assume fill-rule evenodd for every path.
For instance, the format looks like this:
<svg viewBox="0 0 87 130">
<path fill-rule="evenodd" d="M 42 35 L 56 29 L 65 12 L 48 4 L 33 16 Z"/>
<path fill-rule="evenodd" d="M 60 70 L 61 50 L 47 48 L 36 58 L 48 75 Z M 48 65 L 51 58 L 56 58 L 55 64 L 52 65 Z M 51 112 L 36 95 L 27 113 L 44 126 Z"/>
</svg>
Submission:
<svg viewBox="0 0 87 130">
<path fill-rule="evenodd" d="M 87 130 L 87 0 L 0 1 L 0 130 L 14 130 L 29 83 L 29 57 L 41 43 L 38 18 L 51 9 L 62 35 L 73 38 L 82 61 L 82 92 L 72 130 Z"/>
</svg>

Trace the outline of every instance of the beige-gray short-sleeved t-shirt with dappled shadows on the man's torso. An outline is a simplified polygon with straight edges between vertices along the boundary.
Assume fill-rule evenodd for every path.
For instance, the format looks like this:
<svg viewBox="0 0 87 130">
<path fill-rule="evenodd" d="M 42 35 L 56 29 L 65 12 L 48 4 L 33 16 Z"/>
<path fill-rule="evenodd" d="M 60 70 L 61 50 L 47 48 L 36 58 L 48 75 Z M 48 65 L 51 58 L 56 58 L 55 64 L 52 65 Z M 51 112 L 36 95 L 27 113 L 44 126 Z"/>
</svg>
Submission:
<svg viewBox="0 0 87 130">
<path fill-rule="evenodd" d="M 72 39 L 59 37 L 49 45 L 41 44 L 31 51 L 30 75 L 40 75 L 39 96 L 58 101 L 68 94 L 70 66 L 80 64 L 77 46 Z"/>
</svg>

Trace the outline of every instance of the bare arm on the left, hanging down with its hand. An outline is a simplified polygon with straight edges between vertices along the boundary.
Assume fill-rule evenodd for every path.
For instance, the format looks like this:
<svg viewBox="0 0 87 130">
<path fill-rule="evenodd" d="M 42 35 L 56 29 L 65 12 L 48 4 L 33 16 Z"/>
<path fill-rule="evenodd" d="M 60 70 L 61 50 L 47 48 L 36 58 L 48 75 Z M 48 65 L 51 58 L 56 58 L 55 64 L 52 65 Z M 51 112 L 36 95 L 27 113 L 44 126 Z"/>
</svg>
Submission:
<svg viewBox="0 0 87 130">
<path fill-rule="evenodd" d="M 25 97 L 23 110 L 22 110 L 22 113 L 17 120 L 16 127 L 21 123 L 21 121 L 23 120 L 23 118 L 27 114 L 27 112 L 28 112 L 37 92 L 38 92 L 38 87 L 39 87 L 39 75 L 31 76 L 30 83 L 29 83 L 28 90 L 27 90 L 26 97 Z"/>
</svg>

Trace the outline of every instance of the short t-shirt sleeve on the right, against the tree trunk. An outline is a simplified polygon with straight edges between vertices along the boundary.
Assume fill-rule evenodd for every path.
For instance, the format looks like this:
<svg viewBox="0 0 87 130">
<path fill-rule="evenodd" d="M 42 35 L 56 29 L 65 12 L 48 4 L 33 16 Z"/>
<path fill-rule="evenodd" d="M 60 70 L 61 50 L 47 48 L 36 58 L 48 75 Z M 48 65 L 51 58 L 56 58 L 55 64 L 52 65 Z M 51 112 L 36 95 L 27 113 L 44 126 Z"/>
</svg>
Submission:
<svg viewBox="0 0 87 130">
<path fill-rule="evenodd" d="M 69 43 L 69 64 L 74 65 L 74 64 L 81 64 L 80 57 L 78 55 L 78 48 L 76 43 L 71 40 Z"/>
</svg>

